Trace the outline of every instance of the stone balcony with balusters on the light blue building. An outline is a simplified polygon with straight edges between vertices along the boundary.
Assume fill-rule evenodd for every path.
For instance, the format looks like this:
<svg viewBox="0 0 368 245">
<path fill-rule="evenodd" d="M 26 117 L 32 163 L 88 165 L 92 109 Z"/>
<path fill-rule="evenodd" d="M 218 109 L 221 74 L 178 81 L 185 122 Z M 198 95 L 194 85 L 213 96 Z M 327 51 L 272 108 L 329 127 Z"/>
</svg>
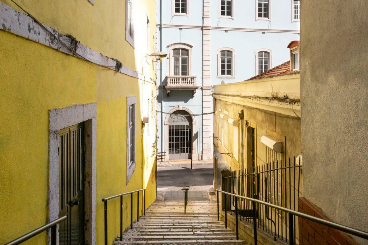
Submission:
<svg viewBox="0 0 368 245">
<path fill-rule="evenodd" d="M 193 90 L 193 95 L 197 92 L 197 77 L 196 76 L 167 76 L 167 84 L 165 86 L 166 95 L 169 96 L 170 90 Z"/>
</svg>

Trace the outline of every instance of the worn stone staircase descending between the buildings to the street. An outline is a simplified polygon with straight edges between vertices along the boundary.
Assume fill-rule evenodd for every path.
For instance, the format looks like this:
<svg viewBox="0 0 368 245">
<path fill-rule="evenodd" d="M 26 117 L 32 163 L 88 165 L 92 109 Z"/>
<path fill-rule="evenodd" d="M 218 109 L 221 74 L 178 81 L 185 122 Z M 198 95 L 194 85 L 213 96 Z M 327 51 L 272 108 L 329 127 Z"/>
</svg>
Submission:
<svg viewBox="0 0 368 245">
<path fill-rule="evenodd" d="M 222 221 L 217 221 L 217 202 L 156 201 L 114 244 L 247 244 Z"/>
</svg>

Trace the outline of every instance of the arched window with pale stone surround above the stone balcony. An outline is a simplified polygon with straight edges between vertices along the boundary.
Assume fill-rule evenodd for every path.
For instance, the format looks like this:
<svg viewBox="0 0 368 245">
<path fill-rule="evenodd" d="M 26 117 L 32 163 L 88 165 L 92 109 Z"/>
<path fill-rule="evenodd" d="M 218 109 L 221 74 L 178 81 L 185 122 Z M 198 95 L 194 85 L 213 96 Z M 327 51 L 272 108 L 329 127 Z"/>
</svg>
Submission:
<svg viewBox="0 0 368 245">
<path fill-rule="evenodd" d="M 192 47 L 186 43 L 169 45 L 170 76 L 191 76 Z"/>
</svg>

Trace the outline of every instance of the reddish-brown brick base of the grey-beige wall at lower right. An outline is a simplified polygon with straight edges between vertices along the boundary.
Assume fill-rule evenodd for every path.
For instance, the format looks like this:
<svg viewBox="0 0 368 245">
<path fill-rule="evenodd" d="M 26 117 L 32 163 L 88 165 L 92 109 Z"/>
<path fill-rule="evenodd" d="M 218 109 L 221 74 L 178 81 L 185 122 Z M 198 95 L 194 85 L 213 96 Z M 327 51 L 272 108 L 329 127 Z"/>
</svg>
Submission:
<svg viewBox="0 0 368 245">
<path fill-rule="evenodd" d="M 298 211 L 301 213 L 331 221 L 303 197 L 299 198 L 298 207 Z M 299 244 L 358 245 L 358 243 L 345 232 L 323 226 L 307 219 L 302 219 L 301 217 L 299 217 Z"/>
</svg>

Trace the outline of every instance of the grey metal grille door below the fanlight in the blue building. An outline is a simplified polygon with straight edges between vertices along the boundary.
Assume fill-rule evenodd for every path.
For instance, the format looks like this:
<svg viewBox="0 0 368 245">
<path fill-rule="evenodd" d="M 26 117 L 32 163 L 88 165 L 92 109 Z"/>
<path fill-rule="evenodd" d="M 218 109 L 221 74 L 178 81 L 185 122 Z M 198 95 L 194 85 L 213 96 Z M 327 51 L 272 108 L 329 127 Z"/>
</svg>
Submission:
<svg viewBox="0 0 368 245">
<path fill-rule="evenodd" d="M 169 159 L 190 159 L 192 143 L 191 125 L 169 125 Z"/>
</svg>

